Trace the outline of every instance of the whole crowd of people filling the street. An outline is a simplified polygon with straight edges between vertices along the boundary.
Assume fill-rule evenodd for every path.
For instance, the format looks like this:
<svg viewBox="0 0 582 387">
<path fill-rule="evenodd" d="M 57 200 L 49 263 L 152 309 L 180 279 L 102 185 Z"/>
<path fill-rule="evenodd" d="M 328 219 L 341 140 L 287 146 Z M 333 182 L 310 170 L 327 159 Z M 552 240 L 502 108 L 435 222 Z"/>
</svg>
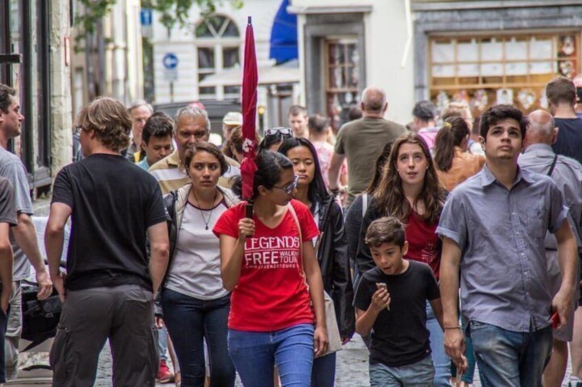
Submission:
<svg viewBox="0 0 582 387">
<path fill-rule="evenodd" d="M 477 119 L 419 101 L 404 126 L 369 87 L 338 132 L 294 105 L 255 138 L 250 198 L 239 112 L 216 145 L 200 105 L 97 98 L 56 175 L 47 271 L 0 84 L 0 382 L 32 264 L 38 298 L 63 302 L 54 386 L 92 386 L 106 340 L 114 386 L 334 386 L 354 333 L 371 386 L 470 386 L 476 367 L 482 386 L 561 386 L 568 342 L 582 386 L 582 92 L 557 77 L 546 95 Z"/>
</svg>

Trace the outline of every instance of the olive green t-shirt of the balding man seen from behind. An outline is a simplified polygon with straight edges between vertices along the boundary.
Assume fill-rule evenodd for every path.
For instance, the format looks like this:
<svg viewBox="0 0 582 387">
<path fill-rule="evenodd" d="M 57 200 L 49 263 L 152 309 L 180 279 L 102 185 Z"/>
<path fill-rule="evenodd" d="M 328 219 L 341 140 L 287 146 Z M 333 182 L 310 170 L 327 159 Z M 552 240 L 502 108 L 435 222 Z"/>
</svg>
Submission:
<svg viewBox="0 0 582 387">
<path fill-rule="evenodd" d="M 347 157 L 349 201 L 370 184 L 376 158 L 386 142 L 404 132 L 403 125 L 377 117 L 360 118 L 340 128 L 335 151 Z"/>
</svg>

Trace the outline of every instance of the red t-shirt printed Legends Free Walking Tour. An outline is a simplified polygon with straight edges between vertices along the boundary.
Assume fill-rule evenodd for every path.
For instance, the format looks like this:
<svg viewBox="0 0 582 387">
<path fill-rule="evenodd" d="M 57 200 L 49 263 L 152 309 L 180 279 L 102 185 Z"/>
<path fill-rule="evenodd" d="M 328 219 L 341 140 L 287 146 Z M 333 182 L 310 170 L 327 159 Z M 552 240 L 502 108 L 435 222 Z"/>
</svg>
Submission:
<svg viewBox="0 0 582 387">
<path fill-rule="evenodd" d="M 310 210 L 292 200 L 303 242 L 319 234 Z M 214 234 L 238 238 L 238 221 L 245 216 L 246 203 L 235 205 L 220 216 Z M 229 328 L 269 332 L 301 323 L 314 323 L 314 313 L 305 277 L 299 230 L 289 212 L 270 229 L 259 219 L 255 235 L 246 238 L 240 278 L 231 296 Z"/>
</svg>

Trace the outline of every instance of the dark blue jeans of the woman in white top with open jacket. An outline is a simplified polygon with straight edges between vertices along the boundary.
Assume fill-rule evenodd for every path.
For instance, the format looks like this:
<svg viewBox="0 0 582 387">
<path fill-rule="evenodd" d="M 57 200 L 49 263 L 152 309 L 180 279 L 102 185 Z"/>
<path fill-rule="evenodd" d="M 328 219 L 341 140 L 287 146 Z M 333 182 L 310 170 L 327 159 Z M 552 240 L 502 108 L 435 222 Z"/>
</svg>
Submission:
<svg viewBox="0 0 582 387">
<path fill-rule="evenodd" d="M 226 335 L 230 295 L 200 300 L 170 289 L 162 292 L 164 321 L 180 363 L 182 386 L 204 386 L 204 339 L 208 345 L 211 386 L 234 386 L 235 367 Z"/>
</svg>

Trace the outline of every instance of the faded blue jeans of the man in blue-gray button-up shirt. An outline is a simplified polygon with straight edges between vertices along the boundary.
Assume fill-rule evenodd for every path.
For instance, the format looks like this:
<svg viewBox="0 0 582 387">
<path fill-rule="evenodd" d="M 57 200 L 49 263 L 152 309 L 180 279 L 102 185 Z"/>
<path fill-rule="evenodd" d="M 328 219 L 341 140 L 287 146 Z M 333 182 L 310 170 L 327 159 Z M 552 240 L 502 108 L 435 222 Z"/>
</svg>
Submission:
<svg viewBox="0 0 582 387">
<path fill-rule="evenodd" d="M 552 329 L 512 332 L 469 321 L 469 335 L 483 387 L 541 387 L 552 351 Z"/>
</svg>

